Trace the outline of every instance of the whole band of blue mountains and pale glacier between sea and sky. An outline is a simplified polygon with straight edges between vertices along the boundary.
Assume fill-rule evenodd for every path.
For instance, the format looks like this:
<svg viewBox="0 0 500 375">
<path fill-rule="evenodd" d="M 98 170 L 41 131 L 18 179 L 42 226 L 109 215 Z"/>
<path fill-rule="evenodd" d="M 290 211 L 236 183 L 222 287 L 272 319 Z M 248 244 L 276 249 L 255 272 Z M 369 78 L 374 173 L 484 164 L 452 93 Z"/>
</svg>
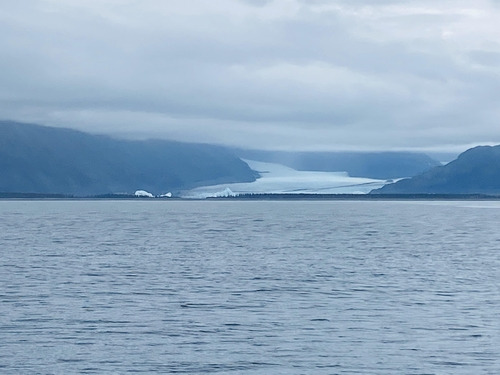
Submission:
<svg viewBox="0 0 500 375">
<path fill-rule="evenodd" d="M 318 198 L 368 192 L 498 195 L 500 146 L 475 147 L 442 165 L 416 152 L 245 150 L 0 122 L 0 193 L 85 197 L 137 190 L 187 197 L 232 190 Z"/>
</svg>

